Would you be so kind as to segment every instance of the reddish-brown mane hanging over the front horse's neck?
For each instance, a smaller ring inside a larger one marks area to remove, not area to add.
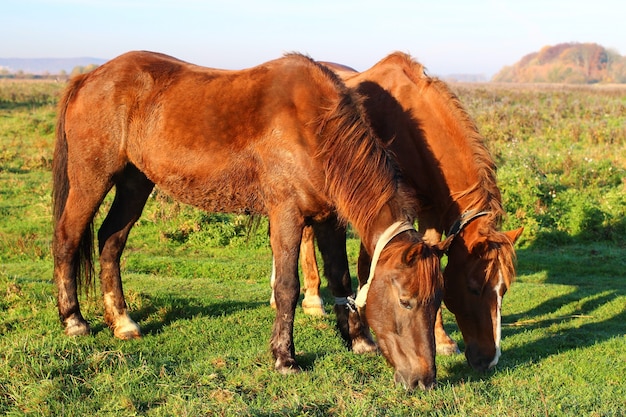
[[[410,193],[404,187],[398,192],[400,170],[371,128],[362,96],[331,69],[312,62],[340,92],[315,121],[323,138],[316,157],[325,164],[326,192],[341,221],[349,219],[363,236],[385,204],[395,199],[398,207],[411,207]]]

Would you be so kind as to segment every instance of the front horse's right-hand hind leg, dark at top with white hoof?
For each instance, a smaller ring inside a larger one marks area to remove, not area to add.
[[[98,231],[100,249],[100,285],[104,298],[104,320],[119,339],[141,337],[139,326],[127,311],[120,258],[128,234],[141,216],[154,184],[134,166],[129,165],[115,184],[115,199]]]

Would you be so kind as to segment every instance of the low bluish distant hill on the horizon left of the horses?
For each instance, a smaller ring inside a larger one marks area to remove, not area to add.
[[[0,71],[9,74],[22,72],[24,74],[59,74],[65,71],[71,73],[76,67],[88,65],[102,65],[106,59],[80,58],[0,58]]]

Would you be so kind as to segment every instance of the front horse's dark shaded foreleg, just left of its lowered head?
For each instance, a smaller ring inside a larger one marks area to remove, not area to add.
[[[337,224],[336,219],[315,224],[315,236],[322,259],[324,274],[328,286],[337,301],[345,300],[354,295],[352,279],[348,268],[346,252],[346,229]],[[355,353],[374,352],[378,348],[374,343],[367,325],[361,316],[350,305],[344,302],[335,303],[337,327],[341,336]]]

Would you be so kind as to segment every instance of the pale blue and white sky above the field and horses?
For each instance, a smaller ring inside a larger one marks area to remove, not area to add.
[[[543,46],[626,55],[623,0],[3,0],[0,57],[152,50],[241,69],[301,52],[366,70],[393,51],[430,74],[490,78]]]

